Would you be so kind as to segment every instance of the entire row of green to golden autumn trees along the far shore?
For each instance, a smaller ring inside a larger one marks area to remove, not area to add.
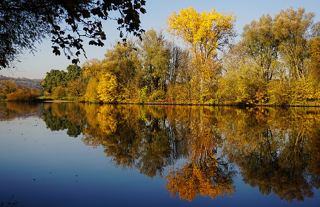
[[[319,105],[320,22],[288,7],[243,27],[233,13],[172,11],[163,30],[114,41],[104,58],[51,70],[45,96],[103,103]],[[175,43],[174,40],[178,40]]]

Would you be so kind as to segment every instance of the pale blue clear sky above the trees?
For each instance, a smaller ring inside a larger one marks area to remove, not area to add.
[[[146,13],[142,14],[141,22],[143,29],[159,29],[165,27],[166,16],[171,14],[171,10],[179,11],[181,8],[192,6],[196,11],[209,11],[215,8],[218,12],[233,11],[236,16],[235,29],[237,33],[242,32],[245,24],[252,20],[258,20],[262,14],[269,13],[273,16],[281,8],[289,6],[304,7],[307,12],[315,12],[314,21],[320,21],[320,3],[318,0],[146,0]],[[116,30],[117,24],[112,20],[103,22],[107,40],[104,47],[84,45],[88,59],[102,59],[105,50],[110,47],[110,43],[118,38],[119,32]],[[169,38],[169,37],[167,37]],[[51,42],[49,39],[43,40],[42,44],[37,45],[38,52],[29,54],[25,51],[20,62],[16,63],[15,70],[0,70],[0,74],[10,77],[44,78],[45,73],[51,69],[66,70],[71,64],[65,56],[55,56],[52,53]],[[85,61],[80,57],[81,65]]]

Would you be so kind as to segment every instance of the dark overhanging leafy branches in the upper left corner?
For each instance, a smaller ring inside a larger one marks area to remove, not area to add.
[[[144,0],[2,0],[0,2],[0,67],[15,61],[23,50],[35,51],[34,44],[51,37],[52,52],[62,52],[72,63],[85,56],[83,38],[88,44],[103,46],[106,39],[102,22],[116,20],[120,37],[126,33],[141,38],[139,14],[145,13]],[[118,11],[118,17],[111,16]],[[110,14],[109,14],[110,13]]]

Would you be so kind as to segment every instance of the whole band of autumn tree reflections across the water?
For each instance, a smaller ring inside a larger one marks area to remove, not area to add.
[[[23,114],[0,105],[1,120]],[[36,109],[36,107],[32,106]],[[8,111],[9,110],[9,111]],[[27,109],[26,109],[27,110]],[[320,187],[320,109],[46,104],[51,130],[81,132],[111,163],[162,178],[171,196],[232,196],[236,164],[244,183],[288,203]]]

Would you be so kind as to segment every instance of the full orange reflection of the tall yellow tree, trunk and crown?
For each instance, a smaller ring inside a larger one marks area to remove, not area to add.
[[[205,111],[207,112],[207,111]],[[172,168],[166,176],[166,191],[171,197],[179,193],[180,199],[192,201],[197,195],[232,196],[235,191],[233,184],[234,171],[222,158],[216,158],[216,148],[221,137],[215,128],[215,117],[203,110],[192,110],[189,113],[190,162],[181,169]]]

